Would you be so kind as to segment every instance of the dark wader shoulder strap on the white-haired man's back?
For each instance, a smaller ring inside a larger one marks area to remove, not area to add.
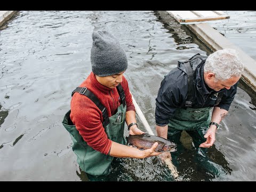
[[[194,77],[193,77],[193,71],[190,65],[190,61],[184,62],[184,66],[187,71],[188,75],[188,97],[185,102],[186,107],[191,107],[192,106],[192,101],[194,99]]]

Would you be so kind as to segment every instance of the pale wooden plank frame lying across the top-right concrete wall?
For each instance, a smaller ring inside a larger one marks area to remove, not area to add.
[[[167,11],[182,24],[186,22],[211,21],[229,19],[229,15],[222,11]]]

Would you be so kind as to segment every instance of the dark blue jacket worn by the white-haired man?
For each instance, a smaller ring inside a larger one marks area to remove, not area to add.
[[[194,55],[190,58],[191,66],[193,66],[194,77],[194,99],[191,108],[213,107],[217,101],[217,93],[223,92],[222,99],[217,105],[218,107],[229,110],[231,102],[233,101],[237,84],[231,86],[229,90],[222,89],[214,91],[210,89],[203,78],[204,63],[206,56],[200,54]],[[185,102],[188,95],[188,76],[183,62],[178,61],[178,67],[174,68],[167,74],[161,82],[161,87],[158,90],[156,98],[155,118],[156,124],[165,126],[168,124],[170,118],[174,116],[175,109],[186,108]]]

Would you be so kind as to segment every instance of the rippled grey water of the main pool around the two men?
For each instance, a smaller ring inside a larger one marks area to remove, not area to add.
[[[124,47],[129,60],[125,77],[154,132],[155,98],[164,75],[177,60],[210,53],[164,11],[18,12],[0,30],[0,180],[86,180],[61,121],[70,108],[71,92],[91,72],[94,29],[111,31]],[[250,95],[255,93],[238,87],[209,151],[219,176],[197,170],[191,138],[183,133],[186,151],[178,180],[256,180],[256,108]],[[113,180],[174,180],[158,157],[117,160]]]

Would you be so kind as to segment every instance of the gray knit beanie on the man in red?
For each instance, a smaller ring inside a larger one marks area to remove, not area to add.
[[[118,40],[108,31],[93,31],[92,72],[100,77],[118,74],[127,69],[127,57]]]

